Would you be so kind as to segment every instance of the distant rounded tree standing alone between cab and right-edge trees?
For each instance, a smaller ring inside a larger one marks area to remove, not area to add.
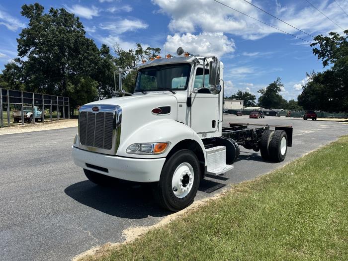
[[[266,88],[258,90],[258,92],[261,93],[258,100],[259,105],[266,109],[282,107],[286,100],[284,100],[284,98],[279,94],[281,87],[284,87],[284,85],[281,83],[281,79],[278,77],[277,80],[268,85]]]

